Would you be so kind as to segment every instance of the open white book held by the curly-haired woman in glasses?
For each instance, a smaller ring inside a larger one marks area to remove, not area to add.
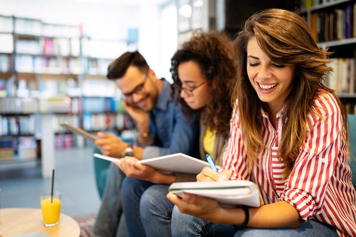
[[[120,162],[120,159],[108,157],[100,154],[94,154],[95,157],[110,161]],[[157,171],[171,174],[174,172],[186,174],[199,174],[204,167],[209,167],[209,163],[197,158],[185,155],[183,153],[175,153],[156,158],[144,159],[138,161],[141,164],[146,164],[154,167]],[[217,168],[220,168],[217,166]]]

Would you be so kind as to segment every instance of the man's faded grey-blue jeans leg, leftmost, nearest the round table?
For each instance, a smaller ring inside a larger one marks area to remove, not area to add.
[[[122,214],[120,190],[124,178],[125,174],[120,168],[111,163],[106,177],[102,204],[93,226],[94,233],[99,236],[126,236],[125,229],[119,228]]]

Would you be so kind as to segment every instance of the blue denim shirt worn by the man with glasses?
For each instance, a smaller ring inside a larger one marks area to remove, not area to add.
[[[199,157],[199,122],[183,115],[181,105],[171,99],[170,84],[162,81],[164,85],[153,109],[156,136],[149,146],[144,147],[142,159],[179,152]]]

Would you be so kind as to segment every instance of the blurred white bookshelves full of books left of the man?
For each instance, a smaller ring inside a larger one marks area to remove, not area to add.
[[[94,38],[83,25],[0,16],[0,166],[41,161],[50,176],[55,148],[85,145],[64,121],[90,132],[132,128],[105,75],[136,42]]]

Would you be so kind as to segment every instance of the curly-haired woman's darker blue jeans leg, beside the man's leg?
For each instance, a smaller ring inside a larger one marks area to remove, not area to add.
[[[129,237],[145,236],[140,218],[140,199],[143,192],[154,183],[126,177],[121,188],[121,200]]]

